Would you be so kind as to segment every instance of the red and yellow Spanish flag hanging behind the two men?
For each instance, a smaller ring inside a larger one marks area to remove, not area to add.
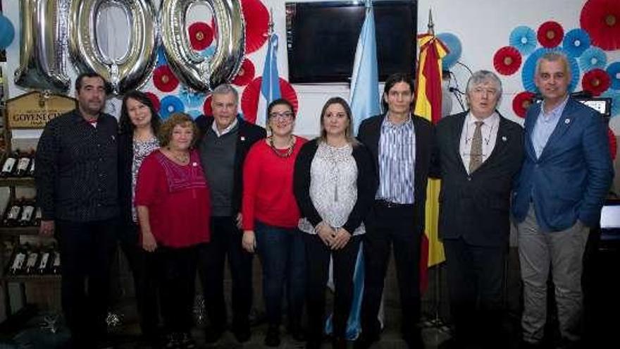
[[[416,72],[414,113],[435,124],[441,118],[441,60],[448,54],[448,49],[435,37],[432,29],[418,36],[418,44],[420,56]],[[426,188],[426,227],[420,259],[421,291],[428,286],[428,267],[445,260],[443,245],[438,238],[439,190],[440,180],[429,178]]]

